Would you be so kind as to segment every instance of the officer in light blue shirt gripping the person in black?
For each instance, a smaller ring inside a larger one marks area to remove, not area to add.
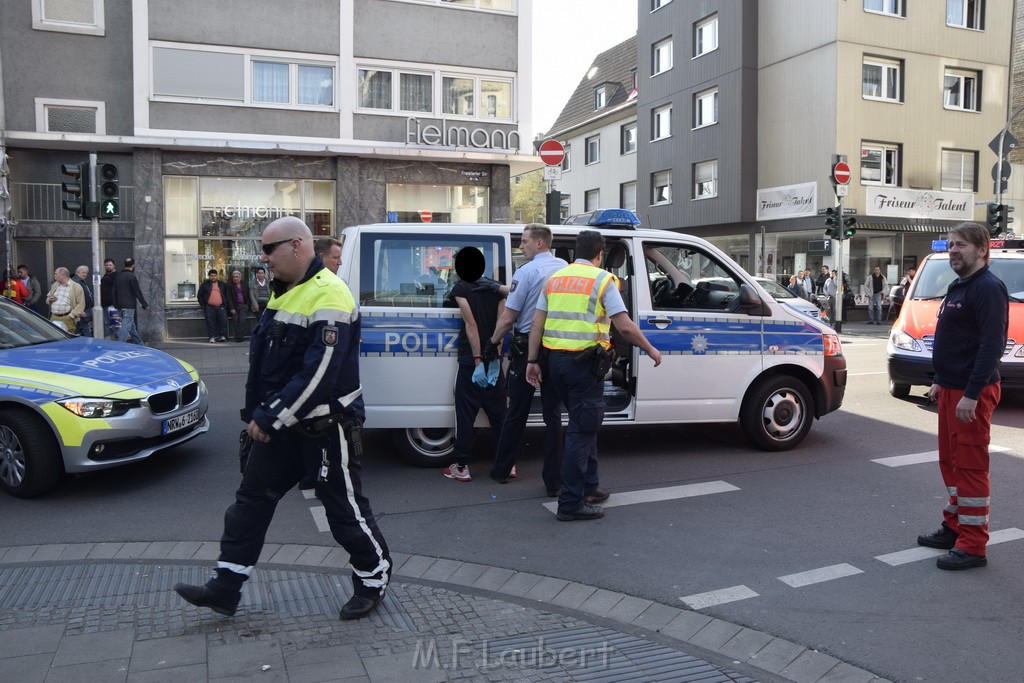
[[[497,347],[501,340],[512,333],[509,349],[508,396],[509,407],[505,413],[501,438],[495,454],[495,466],[490,477],[506,483],[515,467],[522,432],[526,428],[530,403],[536,389],[526,382],[526,348],[529,343],[529,327],[534,322],[537,299],[544,291],[548,276],[568,263],[551,253],[551,228],[541,223],[529,223],[522,229],[519,247],[526,263],[515,271],[509,295],[505,301],[505,312],[498,318],[498,326],[484,349],[484,358],[497,357]],[[561,399],[551,383],[541,385],[541,404],[544,424],[544,468],[541,476],[544,486],[551,497],[558,496],[562,467],[562,410]]]

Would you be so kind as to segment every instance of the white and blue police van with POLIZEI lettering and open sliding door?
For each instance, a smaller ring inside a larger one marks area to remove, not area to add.
[[[843,402],[846,358],[836,332],[775,301],[710,243],[639,222],[603,210],[550,226],[552,251],[569,263],[577,234],[601,231],[602,267],[618,278],[630,317],[662,352],[655,369],[612,326],[616,360],[604,382],[603,424],[738,423],[763,450],[798,445],[815,418]],[[479,249],[484,273],[509,284],[522,263],[522,229],[384,223],[343,231],[338,274],[359,302],[366,426],[394,430],[414,464],[440,466],[453,452],[455,254]],[[534,408],[529,424],[543,424],[539,396]]]

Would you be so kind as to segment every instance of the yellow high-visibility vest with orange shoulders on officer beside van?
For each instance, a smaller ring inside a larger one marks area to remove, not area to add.
[[[556,270],[545,286],[548,314],[541,343],[560,351],[611,346],[608,317],[601,297],[617,279],[597,266],[572,263]]]

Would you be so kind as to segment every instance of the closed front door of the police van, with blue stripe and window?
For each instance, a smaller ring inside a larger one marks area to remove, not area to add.
[[[711,245],[641,241],[636,322],[662,367],[639,359],[637,422],[735,421],[763,338],[763,318],[737,307],[738,266]]]

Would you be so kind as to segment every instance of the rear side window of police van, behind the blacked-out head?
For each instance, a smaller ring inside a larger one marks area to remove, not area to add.
[[[459,281],[455,255],[463,247],[483,254],[483,274],[503,281],[505,242],[499,236],[452,237],[435,232],[364,233],[359,254],[359,305],[451,307]]]

